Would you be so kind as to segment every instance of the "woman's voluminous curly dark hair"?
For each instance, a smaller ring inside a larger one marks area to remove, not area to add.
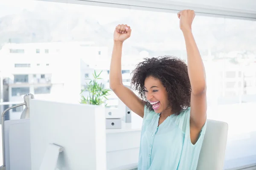
[[[138,91],[145,105],[152,111],[152,105],[145,96],[144,82],[149,76],[159,79],[166,88],[172,112],[179,115],[190,106],[191,85],[186,63],[173,56],[144,59],[131,73],[131,88]]]

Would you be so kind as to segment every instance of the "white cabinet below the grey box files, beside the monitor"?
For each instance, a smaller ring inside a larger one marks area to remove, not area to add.
[[[122,129],[106,129],[108,170],[138,163],[140,131],[140,124],[124,122],[122,122]]]

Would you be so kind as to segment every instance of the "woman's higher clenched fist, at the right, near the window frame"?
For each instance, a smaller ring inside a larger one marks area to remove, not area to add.
[[[191,31],[192,22],[195,18],[195,11],[193,10],[179,11],[178,17],[180,19],[180,29],[182,31]]]

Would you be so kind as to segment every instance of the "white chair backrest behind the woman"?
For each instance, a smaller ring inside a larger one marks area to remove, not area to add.
[[[199,155],[197,170],[222,170],[227,144],[226,122],[207,119],[204,142]]]

